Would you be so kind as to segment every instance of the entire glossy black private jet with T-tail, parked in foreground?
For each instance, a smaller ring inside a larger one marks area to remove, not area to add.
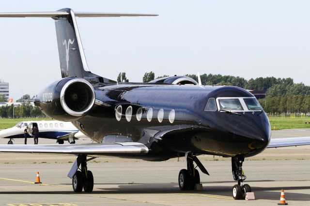
[[[251,191],[242,164],[267,147],[310,144],[310,137],[271,140],[269,120],[247,90],[202,86],[186,76],[149,83],[117,83],[90,72],[80,40],[77,17],[155,16],[56,12],[0,13],[0,17],[50,17],[55,20],[62,79],[45,88],[35,105],[48,117],[71,121],[93,144],[0,145],[0,152],[59,153],[77,156],[68,177],[73,190],[93,191],[87,162],[100,156],[165,161],[185,157],[179,173],[181,190],[193,190],[200,174],[209,175],[199,155],[231,158],[233,198]],[[89,158],[88,158],[89,157]]]

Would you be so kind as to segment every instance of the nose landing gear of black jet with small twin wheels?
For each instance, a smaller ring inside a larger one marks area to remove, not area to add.
[[[246,193],[251,192],[251,187],[248,184],[243,184],[243,181],[247,178],[243,174],[243,162],[244,157],[242,156],[232,157],[233,179],[238,181],[238,184],[233,186],[233,199],[235,200],[245,199]]]

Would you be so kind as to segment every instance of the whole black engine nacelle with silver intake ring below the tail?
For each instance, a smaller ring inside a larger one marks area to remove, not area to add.
[[[52,83],[40,94],[35,105],[48,117],[73,121],[86,115],[95,102],[93,86],[82,78],[68,77]]]

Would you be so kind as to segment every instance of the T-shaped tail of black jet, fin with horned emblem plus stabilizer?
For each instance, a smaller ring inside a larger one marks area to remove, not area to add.
[[[116,83],[113,80],[90,72],[87,66],[83,45],[79,36],[75,16],[108,17],[108,16],[154,16],[146,14],[117,14],[117,13],[74,13],[72,9],[64,8],[57,12],[30,13],[0,13],[0,17],[51,17],[55,20],[58,52],[62,78],[76,76],[90,82]]]

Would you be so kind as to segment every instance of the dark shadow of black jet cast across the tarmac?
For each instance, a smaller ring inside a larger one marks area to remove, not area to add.
[[[96,184],[102,185],[102,184]],[[113,185],[113,184],[109,184]],[[70,188],[71,189],[71,188]],[[206,186],[204,185],[203,191],[180,191],[176,183],[150,183],[150,184],[117,184],[115,187],[108,188],[94,188],[92,194],[198,194],[198,195],[214,195],[214,196],[227,196],[231,197],[232,187],[230,186]],[[252,187],[255,192],[256,199],[265,200],[278,200],[280,198],[280,187]],[[292,190],[310,190],[310,186],[296,186],[285,187],[285,196],[287,200],[295,201],[310,201],[309,194],[290,192]],[[0,194],[77,194],[73,191],[0,191]],[[86,192],[79,193],[81,195],[87,194]]]

